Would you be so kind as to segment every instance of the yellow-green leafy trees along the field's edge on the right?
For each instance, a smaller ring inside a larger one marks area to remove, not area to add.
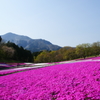
[[[59,62],[100,55],[100,42],[79,44],[75,48],[63,47],[57,51],[42,51],[34,62]]]

